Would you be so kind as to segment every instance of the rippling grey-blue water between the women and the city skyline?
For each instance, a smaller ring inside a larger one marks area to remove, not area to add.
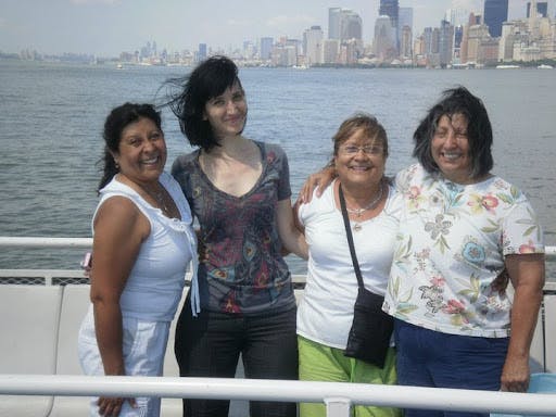
[[[0,61],[0,236],[90,236],[106,114],[124,101],[152,102],[166,78],[188,71]],[[374,113],[384,125],[394,174],[412,163],[412,134],[440,92],[468,87],[493,123],[493,172],[526,191],[546,243],[556,245],[556,71],[242,68],[240,76],[250,108],[245,135],[286,150],[294,198],[329,160],[331,137],[353,112]],[[163,116],[169,168],[191,149],[174,116]],[[2,249],[0,268],[76,268],[80,255]],[[288,262],[304,274],[304,262]]]

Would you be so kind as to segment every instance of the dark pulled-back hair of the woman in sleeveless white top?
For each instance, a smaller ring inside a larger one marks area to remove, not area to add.
[[[162,131],[161,114],[154,110],[152,104],[135,104],[125,103],[112,109],[104,122],[104,153],[99,165],[102,165],[102,178],[97,188],[99,192],[110,180],[118,173],[114,161],[114,153],[119,153],[119,142],[122,141],[122,132],[131,123],[139,118],[151,119]]]

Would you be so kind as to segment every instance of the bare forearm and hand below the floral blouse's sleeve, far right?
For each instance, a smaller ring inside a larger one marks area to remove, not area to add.
[[[506,256],[506,268],[515,288],[511,336],[502,370],[503,391],[525,392],[529,387],[529,349],[543,296],[544,255]]]

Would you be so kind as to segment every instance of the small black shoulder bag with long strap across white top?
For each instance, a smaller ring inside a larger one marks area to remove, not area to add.
[[[394,327],[393,317],[382,311],[384,298],[365,289],[361,275],[359,263],[353,244],[350,218],[345,208],[345,199],[342,186],[338,189],[340,206],[342,208],[343,224],[350,244],[353,268],[357,277],[358,292],[353,311],[353,324],[348,338],[348,345],[343,354],[368,362],[382,368],[390,346],[390,337]]]

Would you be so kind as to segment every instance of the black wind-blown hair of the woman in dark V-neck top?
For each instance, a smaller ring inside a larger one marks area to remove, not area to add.
[[[201,62],[189,76],[165,81],[170,90],[166,105],[178,118],[179,128],[191,146],[205,151],[219,146],[210,122],[203,119],[205,104],[236,83],[243,89],[237,65],[223,55]]]

